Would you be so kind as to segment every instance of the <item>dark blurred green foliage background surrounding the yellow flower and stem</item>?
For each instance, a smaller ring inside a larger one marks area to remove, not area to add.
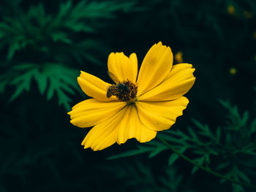
[[[110,82],[109,53],[137,53],[141,63],[162,41],[197,78],[184,115],[160,135],[198,164],[255,184],[255,18],[254,0],[1,0],[0,191],[252,191],[220,183],[157,139],[83,150],[89,128],[66,113],[87,99],[80,70]]]

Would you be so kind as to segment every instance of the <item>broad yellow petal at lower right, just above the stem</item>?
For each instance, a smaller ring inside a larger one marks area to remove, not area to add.
[[[182,96],[173,101],[138,101],[136,106],[140,120],[147,128],[162,131],[176,122],[176,118],[182,115],[188,103],[189,100]]]

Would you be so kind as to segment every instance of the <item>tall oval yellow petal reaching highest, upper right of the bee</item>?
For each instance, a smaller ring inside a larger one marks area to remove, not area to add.
[[[159,42],[146,54],[138,74],[138,95],[146,93],[159,85],[169,74],[173,65],[173,53],[170,47]]]

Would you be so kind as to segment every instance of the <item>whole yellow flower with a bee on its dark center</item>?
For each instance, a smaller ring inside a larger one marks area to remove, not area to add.
[[[173,66],[173,53],[162,42],[148,50],[139,73],[135,53],[129,58],[110,53],[108,71],[116,84],[86,72],[78,77],[80,88],[93,98],[68,112],[73,125],[94,126],[83,139],[84,148],[103,150],[131,138],[138,142],[154,139],[157,131],[170,128],[183,114],[189,103],[183,95],[195,82],[192,65]]]

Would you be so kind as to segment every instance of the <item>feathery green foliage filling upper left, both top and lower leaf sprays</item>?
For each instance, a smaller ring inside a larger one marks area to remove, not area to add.
[[[74,88],[78,92],[78,72],[69,66],[73,62],[101,65],[97,55],[104,50],[96,39],[80,37],[96,34],[108,20],[116,18],[116,12],[129,12],[134,5],[135,1],[67,1],[60,4],[56,14],[48,14],[39,4],[27,12],[4,15],[0,20],[0,50],[7,52],[7,60],[0,66],[0,92],[14,85],[12,101],[23,91],[30,91],[34,79],[41,94],[47,92],[47,99],[51,99],[56,93],[59,104],[69,110],[69,95],[75,93]],[[23,61],[19,61],[21,55]]]

